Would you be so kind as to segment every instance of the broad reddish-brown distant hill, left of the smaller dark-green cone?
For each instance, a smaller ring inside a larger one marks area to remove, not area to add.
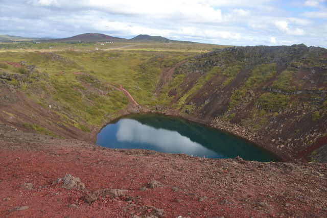
[[[62,38],[62,39],[52,39],[50,41],[56,41],[56,42],[99,42],[99,41],[123,41],[127,40],[124,38],[119,38],[119,37],[113,37],[113,36],[108,36],[105,34],[101,33],[84,33],[68,38]]]

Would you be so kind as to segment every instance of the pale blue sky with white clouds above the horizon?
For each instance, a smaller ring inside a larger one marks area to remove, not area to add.
[[[327,0],[0,0],[0,34],[62,38],[89,32],[327,47]]]

